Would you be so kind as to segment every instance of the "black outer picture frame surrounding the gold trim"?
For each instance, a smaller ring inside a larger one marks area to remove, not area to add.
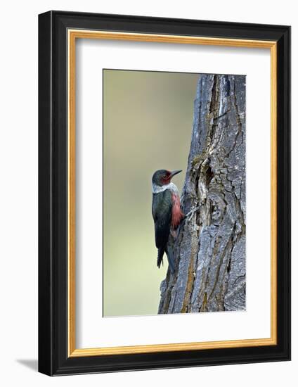
[[[277,345],[68,357],[69,28],[277,42]],[[279,360],[290,360],[290,27],[63,11],[39,15],[39,372],[53,376]]]

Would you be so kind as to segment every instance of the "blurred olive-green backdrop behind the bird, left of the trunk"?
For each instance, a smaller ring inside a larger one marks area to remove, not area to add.
[[[156,315],[160,282],[151,215],[155,170],[182,169],[197,74],[103,70],[103,315]]]

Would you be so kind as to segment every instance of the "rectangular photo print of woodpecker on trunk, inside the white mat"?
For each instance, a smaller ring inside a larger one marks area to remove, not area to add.
[[[245,75],[103,70],[103,317],[245,310]]]

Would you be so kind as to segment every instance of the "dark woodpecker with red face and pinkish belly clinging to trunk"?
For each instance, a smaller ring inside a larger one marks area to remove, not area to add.
[[[185,217],[180,208],[178,188],[171,183],[171,178],[180,172],[182,170],[157,170],[152,177],[152,215],[155,224],[155,246],[158,249],[157,267],[160,268],[166,253],[171,273],[174,273],[174,259],[167,248],[169,233],[175,230]]]

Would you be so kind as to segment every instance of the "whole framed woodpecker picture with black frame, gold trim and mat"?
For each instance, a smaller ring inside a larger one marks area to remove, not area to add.
[[[39,15],[39,372],[290,360],[290,27]]]

